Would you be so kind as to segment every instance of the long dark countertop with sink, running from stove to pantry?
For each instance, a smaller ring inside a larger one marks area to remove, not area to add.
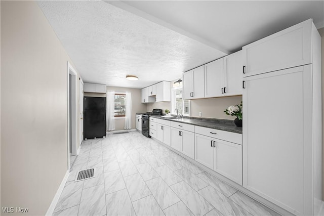
[[[209,127],[213,129],[219,129],[221,131],[228,131],[237,134],[242,134],[242,127],[237,127],[234,124],[234,120],[225,120],[217,118],[198,118],[198,117],[188,117],[184,116],[183,118],[164,118],[161,116],[154,116],[155,118],[160,118],[169,121],[182,122],[186,124],[193,124],[201,127]]]

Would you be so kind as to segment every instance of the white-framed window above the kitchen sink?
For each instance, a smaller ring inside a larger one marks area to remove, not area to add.
[[[177,114],[175,109],[178,109],[178,114],[190,115],[190,100],[182,98],[182,88],[172,90],[171,113]]]

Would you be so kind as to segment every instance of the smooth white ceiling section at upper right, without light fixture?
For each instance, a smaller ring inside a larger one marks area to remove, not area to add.
[[[225,53],[310,18],[317,28],[324,27],[324,1],[107,2],[208,41]]]

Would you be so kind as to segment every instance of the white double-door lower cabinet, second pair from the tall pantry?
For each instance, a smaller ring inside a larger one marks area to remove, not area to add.
[[[171,127],[171,147],[194,159],[194,133]]]

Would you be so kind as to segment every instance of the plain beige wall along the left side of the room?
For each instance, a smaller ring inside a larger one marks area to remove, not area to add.
[[[1,1],[1,207],[44,215],[67,171],[67,61],[36,2]]]

